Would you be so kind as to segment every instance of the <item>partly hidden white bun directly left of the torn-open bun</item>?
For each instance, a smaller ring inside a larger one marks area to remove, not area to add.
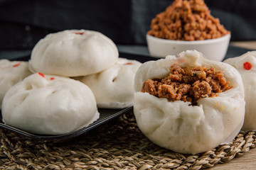
[[[92,89],[100,108],[126,108],[133,105],[134,77],[142,63],[119,58],[113,67],[79,80]]]

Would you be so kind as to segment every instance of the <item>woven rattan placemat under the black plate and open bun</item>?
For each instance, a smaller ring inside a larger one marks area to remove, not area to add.
[[[133,113],[72,140],[40,141],[0,130],[0,169],[204,169],[255,147],[255,132],[240,132],[230,145],[185,155],[154,145]]]

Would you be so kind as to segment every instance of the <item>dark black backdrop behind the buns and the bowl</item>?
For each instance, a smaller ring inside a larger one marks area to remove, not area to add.
[[[255,0],[205,0],[231,40],[256,40]],[[97,30],[118,45],[146,45],[151,19],[171,0],[0,0],[0,50],[31,50],[48,33]]]

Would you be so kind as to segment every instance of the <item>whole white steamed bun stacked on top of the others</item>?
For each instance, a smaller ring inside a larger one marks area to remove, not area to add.
[[[117,46],[102,33],[64,30],[36,44],[29,67],[33,72],[78,77],[112,67],[118,56]]]

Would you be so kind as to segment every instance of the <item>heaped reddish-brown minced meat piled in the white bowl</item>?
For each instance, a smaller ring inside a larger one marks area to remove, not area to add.
[[[210,15],[203,0],[175,0],[151,21],[149,35],[168,40],[208,40],[230,31]]]

